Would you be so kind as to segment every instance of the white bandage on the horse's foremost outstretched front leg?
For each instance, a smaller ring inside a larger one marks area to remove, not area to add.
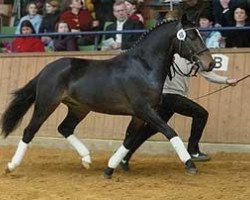
[[[186,163],[189,159],[191,159],[191,156],[187,152],[180,137],[173,137],[170,139],[170,142],[183,163]]]

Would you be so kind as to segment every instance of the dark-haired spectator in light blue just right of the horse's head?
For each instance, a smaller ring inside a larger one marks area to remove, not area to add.
[[[199,26],[201,28],[212,28],[214,19],[209,13],[202,13],[199,17]],[[224,39],[219,31],[202,31],[201,35],[207,48],[225,47]]]

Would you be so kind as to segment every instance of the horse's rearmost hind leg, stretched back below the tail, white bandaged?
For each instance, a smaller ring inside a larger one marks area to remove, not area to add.
[[[49,102],[49,101],[47,101]],[[58,103],[53,104],[35,104],[34,112],[32,118],[28,124],[28,126],[24,129],[23,137],[20,140],[17,150],[12,157],[11,162],[8,163],[6,172],[12,172],[14,169],[19,166],[23,160],[23,157],[26,153],[28,148],[28,144],[34,138],[36,132],[39,130],[41,125],[45,122],[45,120],[50,116],[52,112],[57,108],[59,105]]]

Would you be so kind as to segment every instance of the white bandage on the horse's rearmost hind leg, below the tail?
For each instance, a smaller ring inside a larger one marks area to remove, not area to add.
[[[15,155],[12,157],[11,162],[8,163],[8,170],[10,172],[21,164],[27,148],[28,144],[20,140]]]

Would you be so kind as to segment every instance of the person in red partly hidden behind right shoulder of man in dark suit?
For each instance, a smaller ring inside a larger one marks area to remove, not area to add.
[[[139,21],[144,24],[144,19],[141,13],[137,10],[137,0],[125,0],[129,19]]]

